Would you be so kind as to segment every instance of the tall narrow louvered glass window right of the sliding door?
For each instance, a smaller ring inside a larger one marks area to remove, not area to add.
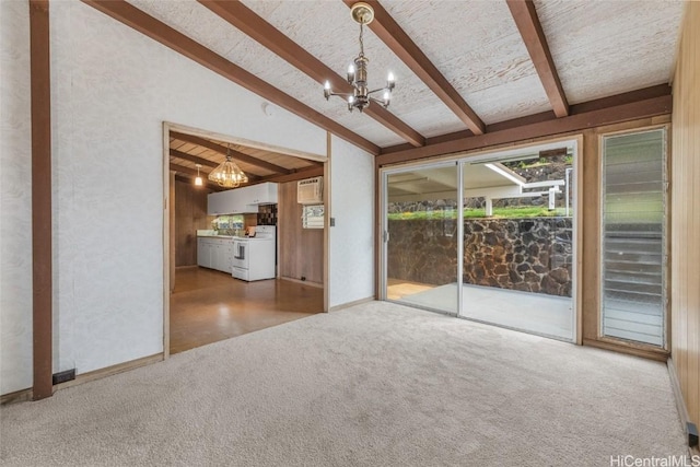
[[[603,139],[604,336],[666,342],[666,135]]]

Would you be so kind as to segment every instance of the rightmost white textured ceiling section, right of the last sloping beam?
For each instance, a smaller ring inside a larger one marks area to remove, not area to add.
[[[680,1],[535,2],[569,103],[667,83]]]

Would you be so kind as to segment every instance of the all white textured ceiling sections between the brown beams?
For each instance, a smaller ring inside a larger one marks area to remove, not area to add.
[[[368,115],[329,102],[322,84],[194,0],[129,0],[264,81],[380,147],[405,141]],[[359,26],[340,0],[244,0],[338,74],[359,51]],[[486,124],[551,110],[505,1],[382,0],[382,5]],[[682,2],[536,0],[571,104],[668,82]],[[389,112],[424,137],[466,126],[365,28],[370,86],[394,72]]]

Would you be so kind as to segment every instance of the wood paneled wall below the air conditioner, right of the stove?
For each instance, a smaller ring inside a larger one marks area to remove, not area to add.
[[[302,205],[296,202],[296,182],[279,184],[277,238],[279,276],[322,284],[324,281],[324,230],[302,229]]]

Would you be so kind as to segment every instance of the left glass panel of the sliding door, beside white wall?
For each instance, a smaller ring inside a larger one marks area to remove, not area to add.
[[[456,163],[385,176],[386,299],[456,314]]]

